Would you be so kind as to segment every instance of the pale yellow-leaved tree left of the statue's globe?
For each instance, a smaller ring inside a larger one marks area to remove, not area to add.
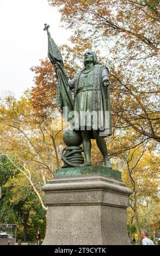
[[[1,103],[0,154],[7,156],[27,179],[45,210],[41,187],[54,177],[61,164],[61,130],[57,130],[54,118],[35,112],[27,96]]]

